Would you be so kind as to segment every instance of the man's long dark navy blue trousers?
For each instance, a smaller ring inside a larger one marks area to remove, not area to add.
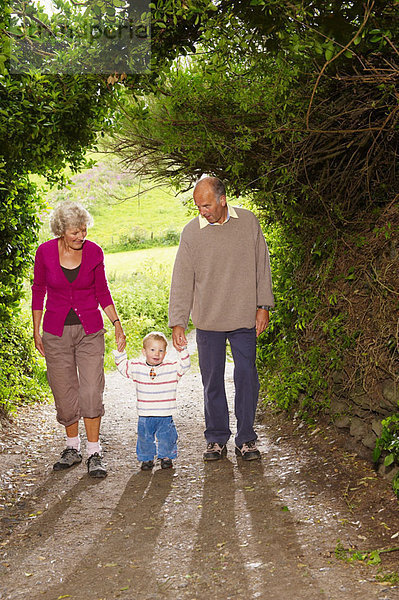
[[[205,439],[207,442],[223,445],[231,435],[224,385],[226,340],[230,342],[234,359],[234,411],[237,418],[235,443],[241,446],[258,437],[254,430],[259,394],[255,364],[255,327],[234,331],[197,329],[198,358],[204,385]]]

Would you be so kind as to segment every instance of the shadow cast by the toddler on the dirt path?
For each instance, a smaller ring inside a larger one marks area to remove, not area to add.
[[[62,584],[38,598],[53,600],[66,594],[85,600],[113,600],[121,594],[129,600],[158,597],[153,595],[153,554],[172,480],[172,471],[134,474],[81,564]]]

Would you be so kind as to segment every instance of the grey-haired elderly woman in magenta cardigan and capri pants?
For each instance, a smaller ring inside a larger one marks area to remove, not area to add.
[[[104,414],[104,324],[99,305],[115,327],[118,350],[125,335],[115,310],[100,246],[86,240],[90,214],[75,202],[59,204],[51,214],[54,239],[36,252],[32,285],[34,341],[46,358],[57,420],[65,426],[66,448],[53,469],[82,462],[78,424],[87,435],[87,469],[91,477],[106,477],[99,441]],[[44,297],[47,294],[40,325]]]

